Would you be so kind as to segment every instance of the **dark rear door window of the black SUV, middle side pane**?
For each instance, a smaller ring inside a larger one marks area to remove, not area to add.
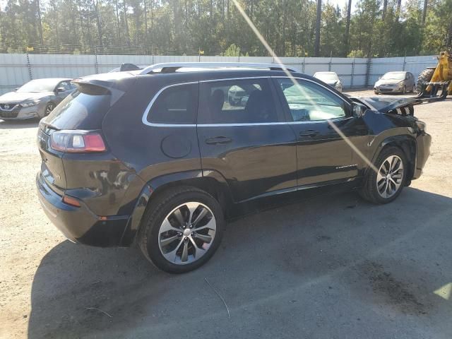
[[[266,78],[201,83],[198,124],[255,124],[278,121]]]

